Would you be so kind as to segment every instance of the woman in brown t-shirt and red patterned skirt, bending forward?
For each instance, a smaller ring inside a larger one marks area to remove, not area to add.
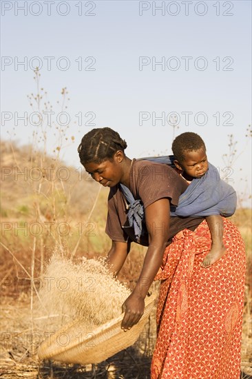
[[[85,170],[110,187],[106,232],[114,273],[132,241],[148,246],[136,287],[123,304],[121,327],[126,331],[140,320],[151,283],[161,280],[151,378],[240,378],[245,271],[240,233],[224,218],[227,254],[202,267],[211,248],[206,221],[169,217],[187,183],[168,165],[129,159],[126,147],[108,127],[91,130],[78,147]]]

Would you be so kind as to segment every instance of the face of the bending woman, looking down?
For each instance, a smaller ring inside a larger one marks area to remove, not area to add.
[[[111,160],[103,161],[102,163],[86,163],[85,170],[92,178],[103,185],[103,187],[114,187],[120,183],[122,178],[122,165],[116,154]]]

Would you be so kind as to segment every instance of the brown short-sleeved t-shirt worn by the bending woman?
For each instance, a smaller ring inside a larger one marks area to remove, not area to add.
[[[129,190],[135,200],[140,200],[143,207],[160,200],[169,198],[171,209],[178,205],[180,194],[187,189],[187,183],[169,165],[141,161],[134,159],[129,172]],[[134,241],[140,245],[148,246],[148,234],[145,225],[145,234],[136,240],[134,227],[129,227],[127,220],[127,201],[120,189],[120,185],[110,188],[108,198],[108,214],[105,232],[115,241]],[[204,218],[202,217],[171,217],[169,240],[182,229],[194,230]]]

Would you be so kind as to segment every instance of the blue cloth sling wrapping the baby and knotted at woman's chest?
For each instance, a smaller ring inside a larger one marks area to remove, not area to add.
[[[140,158],[140,160],[165,163],[174,167],[174,156],[153,156]],[[127,214],[129,226],[134,227],[134,233],[138,239],[144,232],[143,203],[135,200],[129,188],[122,183],[120,183],[120,189],[129,203]],[[180,195],[178,206],[174,212],[171,212],[171,216],[198,217],[220,214],[228,217],[235,212],[236,202],[236,192],[233,187],[222,181],[216,167],[209,163],[209,170],[206,174],[201,178],[193,178],[185,192]]]

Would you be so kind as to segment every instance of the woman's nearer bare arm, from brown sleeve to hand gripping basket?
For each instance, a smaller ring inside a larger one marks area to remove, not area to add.
[[[161,198],[145,209],[145,222],[149,234],[149,247],[140,276],[132,294],[125,300],[125,316],[121,323],[124,330],[130,329],[143,315],[145,296],[162,263],[169,235],[169,200]]]

